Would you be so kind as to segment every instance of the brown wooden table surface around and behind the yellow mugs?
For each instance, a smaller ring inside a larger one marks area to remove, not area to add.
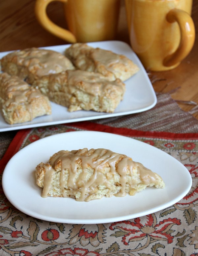
[[[0,52],[67,44],[42,28],[34,14],[35,0],[0,0]],[[53,2],[48,7],[48,15],[59,26],[66,26],[62,3]],[[179,101],[194,101],[198,104],[198,1],[193,1],[192,19],[195,24],[196,38],[193,49],[182,63],[171,71],[151,72],[149,77],[156,92],[170,92],[178,100],[184,111],[194,105]],[[129,44],[124,0],[121,0],[118,32],[115,38]],[[198,112],[193,116],[198,119]]]

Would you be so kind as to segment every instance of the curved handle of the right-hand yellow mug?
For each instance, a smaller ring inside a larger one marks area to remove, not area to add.
[[[170,67],[179,64],[191,51],[195,41],[195,26],[190,15],[179,9],[169,11],[166,19],[170,23],[177,22],[181,33],[179,47],[163,61],[164,66]]]

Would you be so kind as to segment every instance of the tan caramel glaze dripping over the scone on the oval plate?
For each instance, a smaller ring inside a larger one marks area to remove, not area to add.
[[[78,179],[76,179],[76,174],[78,172],[77,162],[81,161],[82,172],[79,174]],[[98,185],[105,184],[109,189],[111,185],[108,182],[106,175],[103,174],[102,170],[105,166],[110,167],[110,172],[115,177],[115,174],[118,173],[120,176],[119,183],[121,184],[121,189],[116,196],[125,196],[125,187],[127,182],[126,174],[129,170],[130,175],[133,175],[133,168],[138,168],[138,173],[140,174],[140,179],[145,183],[149,184],[157,183],[155,174],[144,167],[138,162],[132,161],[131,158],[126,155],[114,153],[108,149],[90,149],[87,148],[65,151],[61,150],[58,153],[54,154],[49,161],[48,165],[45,165],[45,176],[44,176],[44,189],[42,197],[47,197],[50,189],[50,184],[52,181],[53,172],[56,170],[53,168],[57,164],[57,161],[61,160],[61,174],[60,174],[60,188],[63,197],[66,197],[65,194],[65,180],[64,180],[64,171],[68,169],[69,177],[67,181],[67,186],[70,190],[71,195],[75,195],[76,191],[81,191],[79,198],[76,198],[77,201],[89,201],[89,196],[94,194],[95,188]],[[94,171],[93,174],[88,178],[89,171],[87,166],[90,166]],[[88,178],[88,180],[87,180]],[[86,181],[87,180],[87,181]],[[134,180],[134,183],[135,180]],[[132,185],[132,184],[131,184]]]

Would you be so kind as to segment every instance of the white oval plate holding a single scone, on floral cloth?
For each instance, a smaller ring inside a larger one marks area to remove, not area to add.
[[[47,162],[59,150],[84,147],[107,148],[130,156],[159,174],[165,188],[148,187],[135,196],[113,196],[90,202],[41,197],[42,188],[36,185],[35,167],[40,162]],[[17,152],[3,172],[2,185],[8,200],[27,215],[51,222],[99,224],[137,218],[165,209],[188,193],[192,179],[178,160],[147,143],[106,132],[72,131],[45,137]]]

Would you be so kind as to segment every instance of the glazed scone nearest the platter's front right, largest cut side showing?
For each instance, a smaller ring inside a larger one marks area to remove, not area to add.
[[[114,112],[125,92],[120,79],[108,81],[99,73],[82,70],[50,74],[35,80],[32,86],[70,112],[82,109]]]

